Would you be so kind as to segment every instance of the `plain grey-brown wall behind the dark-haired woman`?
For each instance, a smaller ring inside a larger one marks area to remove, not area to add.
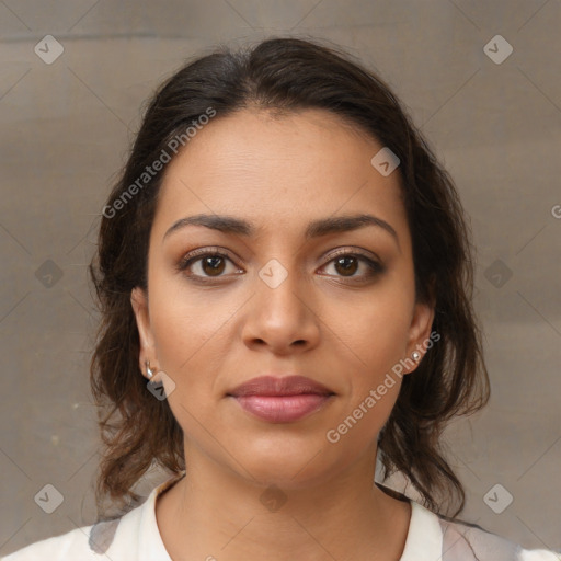
[[[142,103],[185,58],[271,34],[327,38],[377,69],[455,178],[493,392],[446,433],[461,518],[560,548],[560,24],[556,0],[0,0],[0,554],[95,514],[85,265]],[[65,48],[51,65],[34,51],[47,34]],[[483,50],[497,34],[514,48],[501,64]],[[514,497],[502,514],[483,500],[497,483]],[[53,514],[34,501],[46,484],[64,495]]]

